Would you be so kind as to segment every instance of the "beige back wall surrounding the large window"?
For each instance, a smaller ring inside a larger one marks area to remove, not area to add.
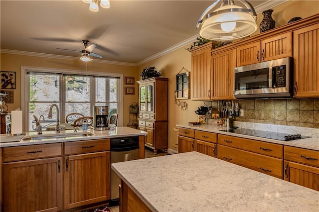
[[[16,89],[14,89],[14,103],[7,104],[8,112],[16,108],[21,108],[21,66],[54,68],[54,69],[68,69],[79,70],[81,73],[85,72],[104,72],[104,73],[120,73],[124,77],[135,77],[137,79],[137,68],[134,66],[119,66],[110,65],[104,63],[95,63],[94,60],[90,63],[84,63],[80,60],[67,60],[67,59],[54,59],[45,57],[24,56],[16,54],[4,54],[1,53],[0,62],[1,71],[16,72]],[[88,65],[86,67],[86,65]],[[123,83],[124,84],[124,83]],[[123,94],[124,94],[123,86]],[[135,83],[135,91],[137,90],[137,83]],[[126,126],[129,123],[129,106],[133,102],[137,102],[138,94],[125,95],[123,98],[123,125]]]

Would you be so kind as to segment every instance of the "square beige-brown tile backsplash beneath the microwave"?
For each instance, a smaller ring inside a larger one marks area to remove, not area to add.
[[[238,100],[237,121],[319,128],[319,99]]]

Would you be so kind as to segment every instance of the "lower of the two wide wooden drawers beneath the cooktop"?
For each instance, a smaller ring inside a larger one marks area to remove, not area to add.
[[[217,147],[219,159],[283,179],[283,160],[228,146]]]

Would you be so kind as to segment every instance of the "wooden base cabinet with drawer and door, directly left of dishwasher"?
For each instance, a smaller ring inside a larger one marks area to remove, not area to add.
[[[110,139],[64,143],[64,209],[111,199]]]

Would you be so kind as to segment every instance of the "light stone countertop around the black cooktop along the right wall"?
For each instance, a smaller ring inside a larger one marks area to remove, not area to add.
[[[176,124],[176,126],[319,151],[319,129],[316,129],[316,128],[234,121],[234,126],[237,126],[239,128],[312,136],[311,138],[303,138],[303,139],[297,139],[297,140],[291,140],[291,141],[281,141],[281,140],[275,140],[275,139],[269,139],[269,138],[251,136],[251,135],[243,135],[238,133],[220,131],[220,130],[227,129],[227,127],[219,126],[218,124],[199,124],[199,125]]]

